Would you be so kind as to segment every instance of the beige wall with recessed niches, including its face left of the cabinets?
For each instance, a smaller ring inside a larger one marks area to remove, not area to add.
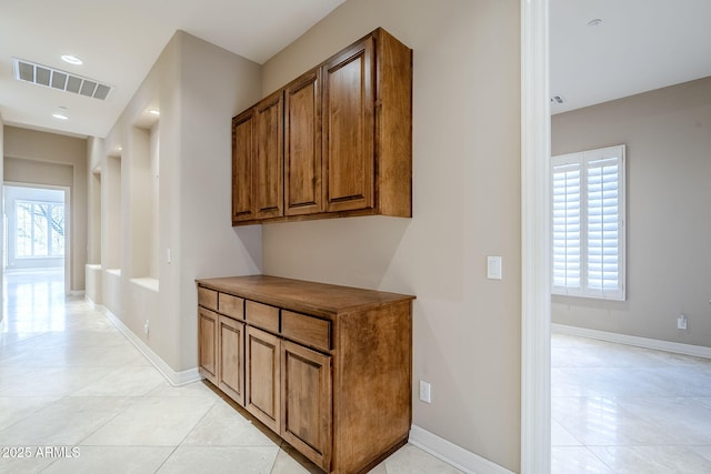
[[[231,118],[259,99],[260,78],[259,64],[179,31],[90,147],[88,169],[101,173],[90,177],[102,210],[91,214],[101,221],[92,246],[104,271],[101,297],[176,376],[197,376],[194,280],[261,272],[261,229],[234,230],[230,220]],[[149,105],[160,109],[152,132],[142,118]]]

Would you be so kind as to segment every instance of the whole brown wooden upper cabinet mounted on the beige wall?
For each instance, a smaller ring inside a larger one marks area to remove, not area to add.
[[[232,145],[233,225],[412,216],[412,50],[387,31],[377,29],[234,120],[233,140],[251,133],[252,144]]]

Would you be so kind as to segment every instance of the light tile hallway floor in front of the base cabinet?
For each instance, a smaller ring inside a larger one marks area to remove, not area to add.
[[[62,293],[61,273],[4,275],[0,473],[319,472],[207,384],[168,384],[101,312]],[[372,473],[459,471],[408,444]]]

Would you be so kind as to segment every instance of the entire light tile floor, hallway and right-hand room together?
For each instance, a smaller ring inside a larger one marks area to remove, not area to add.
[[[6,274],[0,473],[318,472],[62,292],[61,274]],[[551,351],[553,473],[711,473],[711,361],[559,334]],[[372,472],[458,471],[407,445]]]

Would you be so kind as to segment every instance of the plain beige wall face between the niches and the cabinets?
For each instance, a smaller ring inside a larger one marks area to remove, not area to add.
[[[262,271],[261,229],[233,229],[231,220],[232,117],[259,99],[261,68],[187,33],[180,41],[180,174],[174,191],[180,193],[181,268],[176,301],[182,322],[180,364],[196,367],[194,279]],[[163,143],[161,138],[161,157]],[[162,162],[160,169],[162,175]]]

